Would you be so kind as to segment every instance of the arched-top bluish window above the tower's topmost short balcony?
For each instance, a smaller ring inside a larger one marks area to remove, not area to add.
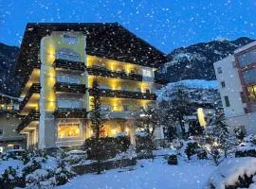
[[[69,49],[61,48],[56,53],[56,58],[61,60],[71,60],[71,61],[80,61],[81,56],[79,53]]]

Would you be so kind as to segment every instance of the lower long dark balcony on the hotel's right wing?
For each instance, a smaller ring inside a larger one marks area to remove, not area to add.
[[[129,92],[129,91],[120,91],[120,90],[109,90],[109,89],[99,89],[98,92],[89,89],[89,94],[94,95],[98,93],[100,96],[108,97],[119,97],[119,98],[134,98],[134,99],[147,99],[155,100],[156,95],[151,93],[141,93],[141,92]]]

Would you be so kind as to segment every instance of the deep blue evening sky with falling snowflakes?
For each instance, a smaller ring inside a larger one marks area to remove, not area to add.
[[[256,0],[0,0],[0,42],[29,22],[119,22],[169,53],[216,38],[256,38]]]

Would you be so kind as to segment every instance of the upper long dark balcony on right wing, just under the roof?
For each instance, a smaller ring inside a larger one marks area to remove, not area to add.
[[[89,75],[93,75],[93,76],[114,77],[114,78],[142,81],[142,76],[136,73],[126,74],[124,71],[115,72],[101,66],[87,67],[86,70]]]

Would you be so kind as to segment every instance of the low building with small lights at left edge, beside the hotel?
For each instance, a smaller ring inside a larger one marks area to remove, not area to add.
[[[18,108],[17,98],[0,94],[0,152],[26,148],[26,137],[16,131],[20,123]]]

